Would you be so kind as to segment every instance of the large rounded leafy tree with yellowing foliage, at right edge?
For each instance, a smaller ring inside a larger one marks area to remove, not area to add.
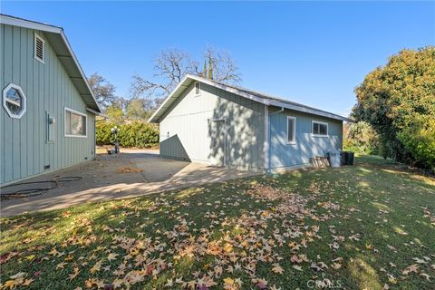
[[[395,160],[435,169],[435,47],[402,50],[355,89],[353,115]]]

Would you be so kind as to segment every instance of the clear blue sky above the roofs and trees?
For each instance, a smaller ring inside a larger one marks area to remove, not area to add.
[[[242,86],[347,114],[364,75],[403,48],[435,43],[435,2],[5,2],[62,26],[83,70],[127,96],[160,50],[231,53]]]

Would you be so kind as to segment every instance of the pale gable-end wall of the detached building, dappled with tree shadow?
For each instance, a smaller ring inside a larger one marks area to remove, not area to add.
[[[205,83],[191,83],[160,121],[160,155],[264,170],[265,106]],[[225,122],[223,121],[225,119]]]

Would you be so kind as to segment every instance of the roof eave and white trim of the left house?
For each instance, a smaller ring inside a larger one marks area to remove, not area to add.
[[[53,47],[53,50],[56,53],[56,56],[59,58],[59,61],[63,64],[63,67],[65,68],[66,73],[68,73],[75,88],[82,96],[82,99],[86,103],[86,106],[97,113],[102,112],[102,109],[96,101],[91,87],[89,86],[86,75],[83,73],[82,67],[80,66],[79,61],[75,57],[70,43],[68,43],[68,39],[63,33],[62,27],[42,24],[39,22],[34,22],[6,14],[0,14],[0,24],[19,26],[42,31],[45,38]]]

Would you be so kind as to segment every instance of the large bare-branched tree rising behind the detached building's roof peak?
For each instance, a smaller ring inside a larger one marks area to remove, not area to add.
[[[179,49],[166,49],[160,52],[154,60],[153,79],[147,79],[139,74],[134,74],[131,81],[131,98],[146,98],[159,104],[164,97],[177,86],[186,73],[200,76],[213,74],[213,79],[224,83],[238,83],[241,81],[237,65],[231,55],[225,51],[215,50],[212,47],[203,53],[204,61],[210,63],[200,68],[202,62],[190,57],[189,53]],[[204,70],[212,70],[205,72]]]

